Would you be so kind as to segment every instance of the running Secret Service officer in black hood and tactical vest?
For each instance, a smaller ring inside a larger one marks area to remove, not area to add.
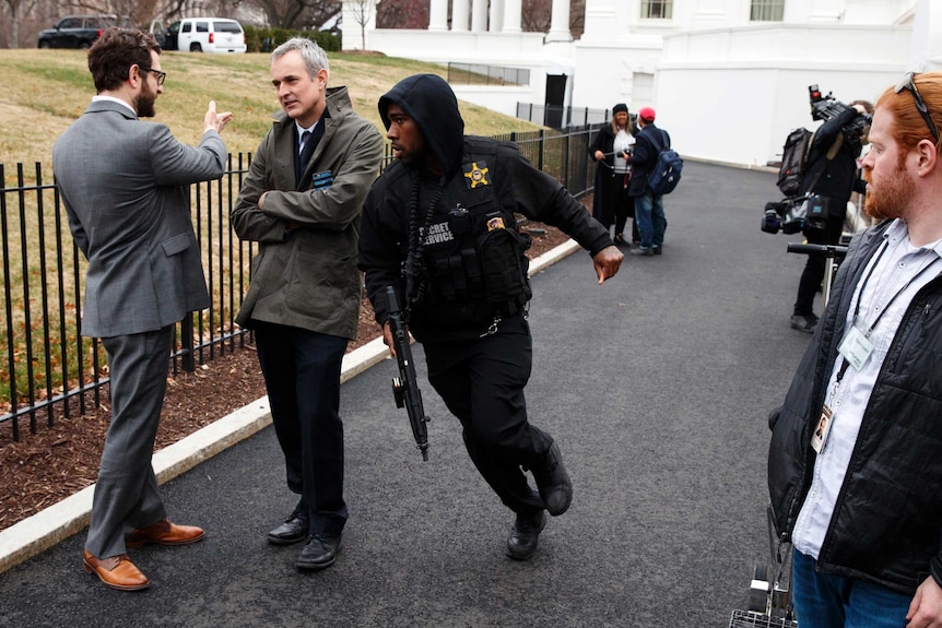
[[[530,242],[515,213],[556,226],[588,249],[599,284],[624,256],[516,145],[466,137],[458,100],[441,78],[402,80],[379,99],[379,115],[397,161],[363,208],[360,268],[376,321],[392,349],[385,295],[392,286],[424,345],[428,381],[461,422],[478,471],[516,514],[507,554],[528,559],[544,511],[565,512],[573,487],[553,437],[527,416]]]

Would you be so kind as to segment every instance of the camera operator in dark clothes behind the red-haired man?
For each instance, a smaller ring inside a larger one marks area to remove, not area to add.
[[[857,171],[857,157],[866,141],[868,127],[861,115],[872,115],[873,105],[853,100],[837,116],[824,122],[814,134],[809,154],[809,167],[801,181],[801,193],[813,193],[825,206],[823,220],[809,221],[804,236],[809,244],[836,245],[840,241],[847,201],[851,192],[863,193],[866,183]],[[813,333],[817,317],[813,311],[814,295],[824,280],[827,260],[809,254],[798,284],[798,297],[791,316],[791,327]]]

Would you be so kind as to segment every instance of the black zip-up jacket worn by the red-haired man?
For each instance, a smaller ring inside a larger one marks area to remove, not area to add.
[[[891,223],[856,236],[785,403],[769,415],[768,487],[789,540],[814,469],[811,434],[867,262]],[[817,565],[912,594],[942,533],[942,277],[914,297],[876,378]],[[938,558],[937,558],[938,560]]]

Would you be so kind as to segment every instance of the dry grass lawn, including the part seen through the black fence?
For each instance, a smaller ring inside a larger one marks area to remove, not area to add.
[[[36,185],[36,163],[42,165],[42,182],[52,182],[52,144],[95,94],[85,55],[82,50],[0,50],[0,165],[4,169],[0,183],[16,188],[17,164],[23,164],[24,188],[22,193],[10,191],[0,199],[5,200],[0,240],[7,253],[0,274],[12,288],[11,316],[4,321],[12,334],[0,328],[0,415],[10,408],[11,386],[24,401],[34,396],[30,393],[34,388],[35,396],[50,398],[75,386],[79,363],[86,374],[94,370],[92,342],[79,339],[75,324],[80,298],[76,280],[84,274],[85,260],[78,256],[72,263],[71,236],[61,208],[57,213],[52,190],[28,189]],[[384,129],[376,104],[393,84],[420,72],[445,74],[440,66],[381,56],[331,54],[329,59],[329,85],[346,85],[354,108],[380,132]],[[228,151],[234,155],[254,153],[271,127],[271,115],[280,109],[269,63],[267,54],[164,52],[161,66],[167,80],[154,120],[166,123],[178,140],[196,144],[202,135],[207,105],[214,99],[217,110],[234,114],[233,122],[223,131]],[[461,111],[469,133],[493,135],[539,128],[467,103],[461,104]],[[237,189],[214,192],[213,206],[227,206],[236,193]],[[193,187],[195,222],[199,220],[198,197],[208,197],[208,186]],[[214,225],[217,232],[207,233],[201,242],[208,275],[217,273],[213,301],[231,298],[238,304],[247,286],[227,285],[225,277],[247,280],[246,245],[227,237],[225,212]],[[239,256],[239,251],[245,254]],[[60,263],[64,269],[61,274],[56,272]],[[240,274],[229,274],[234,271],[231,263],[242,264]],[[5,296],[0,301],[0,312],[4,312]],[[199,333],[227,331],[226,308],[221,308],[212,329],[207,321],[197,325]]]

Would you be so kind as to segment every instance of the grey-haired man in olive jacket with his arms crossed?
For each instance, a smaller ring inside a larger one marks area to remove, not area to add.
[[[236,321],[256,332],[287,486],[301,496],[268,540],[305,541],[296,566],[309,570],[333,565],[346,522],[340,369],[360,315],[361,208],[382,158],[376,127],[353,111],[346,87],[327,87],[329,75],[309,39],[272,52],[283,111],[231,215],[239,238],[259,242]]]

